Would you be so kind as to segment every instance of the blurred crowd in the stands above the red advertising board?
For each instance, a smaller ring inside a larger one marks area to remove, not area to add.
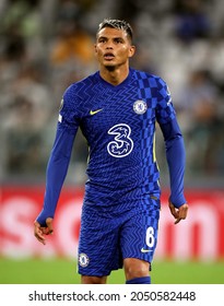
[[[169,85],[187,151],[186,180],[224,178],[224,5],[222,0],[1,0],[0,180],[45,179],[66,87],[97,70],[93,44],[104,17],[134,31],[131,66]],[[167,173],[162,134],[157,160]],[[79,131],[67,181],[85,180]]]

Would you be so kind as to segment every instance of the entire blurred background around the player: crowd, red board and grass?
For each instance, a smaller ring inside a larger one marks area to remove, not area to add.
[[[97,69],[94,35],[108,16],[133,26],[138,52],[131,64],[167,81],[185,137],[190,212],[176,227],[166,205],[168,173],[157,131],[163,205],[153,278],[224,283],[222,0],[0,1],[0,283],[79,283],[75,255],[87,156],[80,132],[56,234],[46,247],[33,237],[33,221],[42,207],[61,95]],[[115,273],[111,282],[122,278]]]

